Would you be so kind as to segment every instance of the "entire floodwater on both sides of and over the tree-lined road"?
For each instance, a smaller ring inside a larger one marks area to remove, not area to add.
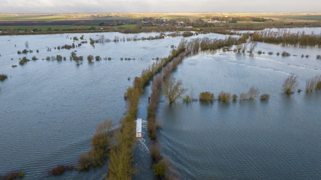
[[[137,37],[156,36],[142,33]],[[169,55],[171,45],[181,37],[158,40],[95,43],[102,33],[84,34],[88,44],[57,50],[70,45],[70,37],[82,34],[2,36],[0,37],[0,73],[8,79],[0,82],[0,175],[11,170],[25,172],[24,179],[102,179],[104,166],[89,172],[70,171],[63,176],[47,177],[46,171],[56,164],[77,163],[81,153],[90,148],[95,125],[111,119],[118,125],[124,115],[124,92],[135,76],[155,62],[152,58]],[[104,33],[133,37],[134,34]],[[202,34],[197,37],[225,38]],[[189,38],[194,38],[188,37]],[[17,54],[25,49],[33,53]],[[16,45],[16,47],[15,47]],[[51,51],[47,49],[51,48]],[[234,47],[230,47],[233,49]],[[39,53],[36,53],[36,50]],[[70,53],[84,57],[76,66]],[[298,76],[299,88],[305,89],[308,78],[321,74],[320,49],[310,46],[282,46],[258,43],[256,52],[265,54],[203,52],[188,57],[173,73],[193,92],[210,91],[217,98],[221,90],[231,94],[247,92],[251,86],[270,94],[261,102],[160,103],[163,128],[158,132],[163,155],[175,164],[182,179],[317,179],[321,176],[321,108],[320,92],[282,93],[282,83],[290,73]],[[268,52],[273,55],[268,55]],[[277,56],[286,51],[290,57]],[[42,58],[61,54],[66,61]],[[88,63],[88,55],[111,57]],[[301,58],[308,54],[310,58]],[[19,58],[31,59],[19,65]],[[135,58],[121,61],[120,58]],[[13,58],[13,60],[11,60]],[[12,68],[12,65],[18,67]],[[130,78],[128,80],[128,78]],[[137,117],[146,120],[150,86],[145,87]],[[164,99],[164,97],[161,97]],[[153,179],[149,156],[146,122],[143,139],[137,141],[133,179]]]

